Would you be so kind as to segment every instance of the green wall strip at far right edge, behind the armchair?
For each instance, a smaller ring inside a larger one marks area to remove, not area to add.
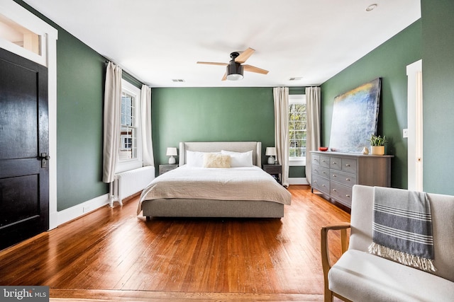
[[[423,190],[454,194],[454,1],[422,0]]]

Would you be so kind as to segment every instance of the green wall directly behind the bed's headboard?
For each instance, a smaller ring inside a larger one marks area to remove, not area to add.
[[[151,103],[155,165],[179,141],[262,141],[264,163],[275,145],[272,88],[153,88]]]

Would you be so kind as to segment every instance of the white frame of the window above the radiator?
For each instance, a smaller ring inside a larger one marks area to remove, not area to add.
[[[121,144],[123,142],[124,135],[121,134],[121,108],[120,108],[120,127],[118,128],[118,158],[117,158],[117,165],[115,169],[115,173],[120,173],[127,170],[133,170],[136,168],[141,168],[143,166],[143,158],[142,158],[142,129],[141,129],[141,121],[140,121],[140,89],[135,87],[133,84],[129,83],[128,81],[121,79],[121,95],[126,93],[131,95],[134,98],[135,102],[135,112],[134,112],[134,125],[135,128],[135,141],[136,141],[136,148],[137,148],[137,157],[136,158],[127,158],[127,159],[120,159],[120,152],[121,152]],[[121,102],[121,97],[120,97]],[[121,104],[120,104],[121,107]]]

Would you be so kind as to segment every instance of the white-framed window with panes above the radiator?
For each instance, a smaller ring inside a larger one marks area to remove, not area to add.
[[[140,89],[121,81],[120,149],[117,173],[142,166]]]

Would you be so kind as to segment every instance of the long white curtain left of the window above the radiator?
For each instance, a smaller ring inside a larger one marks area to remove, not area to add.
[[[114,181],[120,148],[121,68],[109,62],[104,91],[104,141],[102,181]]]

